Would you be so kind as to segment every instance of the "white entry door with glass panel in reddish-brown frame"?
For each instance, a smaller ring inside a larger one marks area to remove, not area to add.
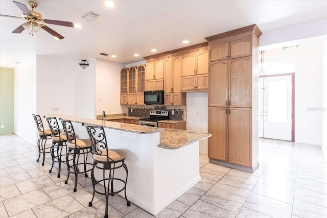
[[[294,141],[294,76],[260,76],[259,137]]]

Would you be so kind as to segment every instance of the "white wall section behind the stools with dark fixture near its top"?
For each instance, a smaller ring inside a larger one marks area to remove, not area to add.
[[[88,60],[85,69],[80,60],[36,57],[37,113],[95,117],[95,64]],[[55,111],[54,108],[58,108]]]

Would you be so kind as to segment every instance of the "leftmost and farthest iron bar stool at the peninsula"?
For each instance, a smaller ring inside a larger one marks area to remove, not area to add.
[[[44,166],[44,159],[45,159],[45,153],[50,153],[49,150],[51,148],[45,148],[45,143],[46,140],[51,139],[51,131],[49,129],[44,130],[43,128],[43,123],[40,115],[35,115],[34,113],[32,114],[36,127],[39,131],[39,139],[37,140],[37,147],[39,150],[39,157],[37,158],[36,162],[39,162],[41,152],[43,154],[43,161],[42,161],[42,166]],[[43,143],[44,142],[44,143]]]

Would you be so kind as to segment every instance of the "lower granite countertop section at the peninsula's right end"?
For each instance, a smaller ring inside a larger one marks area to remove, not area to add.
[[[210,133],[200,133],[188,130],[166,128],[160,133],[159,148],[179,149],[190,143],[211,137]]]

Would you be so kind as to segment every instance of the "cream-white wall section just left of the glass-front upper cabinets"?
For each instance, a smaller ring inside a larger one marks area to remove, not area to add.
[[[120,74],[123,64],[97,59],[96,61],[96,114],[126,113],[120,105]]]

